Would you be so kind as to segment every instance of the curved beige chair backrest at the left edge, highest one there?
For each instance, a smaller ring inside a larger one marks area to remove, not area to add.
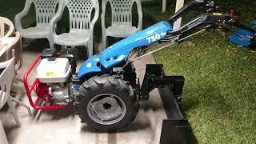
[[[8,31],[6,31],[6,26],[9,26]],[[14,24],[8,18],[0,17],[0,38],[7,38],[14,31]]]

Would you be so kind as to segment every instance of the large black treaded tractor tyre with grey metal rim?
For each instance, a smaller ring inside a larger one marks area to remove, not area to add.
[[[110,75],[84,82],[75,102],[76,114],[96,130],[125,127],[134,121],[138,109],[138,98],[129,82]]]

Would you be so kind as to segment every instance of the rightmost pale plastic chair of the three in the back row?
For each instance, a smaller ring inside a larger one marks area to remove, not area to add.
[[[112,11],[111,26],[106,28],[106,4],[110,2]],[[132,26],[132,6],[136,2],[138,8],[138,26]],[[102,43],[106,49],[106,37],[126,38],[142,30],[142,6],[140,0],[102,0]]]

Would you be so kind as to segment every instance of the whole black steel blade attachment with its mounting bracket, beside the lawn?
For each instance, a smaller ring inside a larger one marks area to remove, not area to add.
[[[162,64],[147,64],[140,89],[141,98],[147,100],[151,90],[158,88],[167,119],[162,121],[160,144],[187,143],[188,122],[182,114],[179,102],[185,78],[166,76]]]

